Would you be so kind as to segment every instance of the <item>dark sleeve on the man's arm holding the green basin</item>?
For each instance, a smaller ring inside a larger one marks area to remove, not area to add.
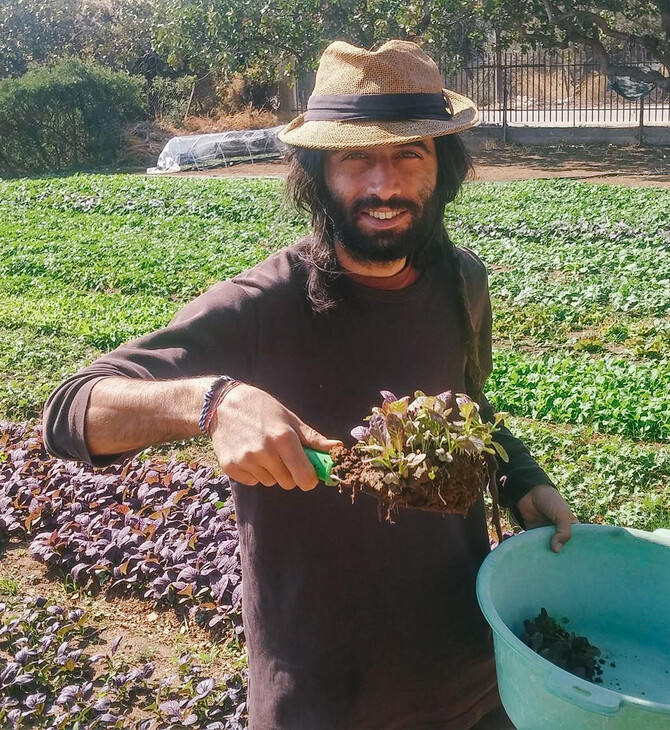
[[[471,256],[475,256],[471,251],[468,251],[468,253]],[[486,383],[493,370],[493,316],[486,267],[478,258],[476,260],[481,265],[481,269],[483,269],[483,275],[480,270],[478,291],[476,295],[471,295],[471,299],[473,300],[471,304],[474,318],[473,324],[475,325],[479,338],[479,365],[482,370],[484,383]],[[485,395],[482,395],[479,406],[482,419],[493,423],[493,407]],[[552,487],[555,487],[555,484],[549,479],[546,472],[539,466],[535,459],[533,459],[525,444],[513,436],[504,424],[500,424],[494,440],[505,449],[509,456],[508,462],[499,456],[496,457],[498,461],[498,495],[500,505],[510,509],[514,518],[523,527],[523,520],[516,508],[517,502],[538,484],[548,484]]]

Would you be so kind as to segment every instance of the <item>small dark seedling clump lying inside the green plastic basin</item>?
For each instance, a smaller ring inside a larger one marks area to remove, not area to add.
[[[568,623],[568,619],[562,621]],[[598,658],[600,649],[585,636],[566,631],[544,608],[536,618],[523,624],[525,631],[521,640],[540,656],[589,682],[600,684],[603,681],[601,664],[604,660]]]

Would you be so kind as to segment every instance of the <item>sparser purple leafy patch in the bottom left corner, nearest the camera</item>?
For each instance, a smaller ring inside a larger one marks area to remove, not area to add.
[[[57,638],[56,638],[57,637]],[[0,604],[0,727],[7,730],[243,730],[244,677],[202,675],[188,654],[177,674],[152,680],[151,663],[128,666],[106,653],[82,611],[38,597],[16,614]],[[46,648],[45,648],[46,647]]]

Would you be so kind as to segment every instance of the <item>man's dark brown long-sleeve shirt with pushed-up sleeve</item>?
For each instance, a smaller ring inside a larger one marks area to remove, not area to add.
[[[480,360],[491,368],[486,271],[460,250]],[[92,458],[84,414],[105,376],[229,374],[271,393],[303,421],[351,444],[381,389],[464,390],[465,349],[450,277],[435,266],[400,290],[349,282],[334,312],[314,315],[296,246],[221,282],[164,329],[66,380],[45,410],[54,454]],[[488,405],[484,404],[488,409]],[[502,502],[548,482],[520,441]],[[285,492],[232,483],[243,571],[253,730],[465,730],[498,702],[489,629],[475,579],[489,551],[483,501],[466,518],[404,511],[336,488]]]

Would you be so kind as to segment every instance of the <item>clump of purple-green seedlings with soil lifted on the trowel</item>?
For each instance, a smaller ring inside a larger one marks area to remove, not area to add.
[[[416,391],[396,398],[381,391],[383,402],[354,428],[351,450],[331,451],[332,476],[343,488],[378,498],[380,514],[391,520],[400,508],[466,515],[489,485],[497,518],[495,487],[498,454],[507,461],[493,435],[506,414],[494,423],[482,421],[479,406],[451,391],[428,396]]]

